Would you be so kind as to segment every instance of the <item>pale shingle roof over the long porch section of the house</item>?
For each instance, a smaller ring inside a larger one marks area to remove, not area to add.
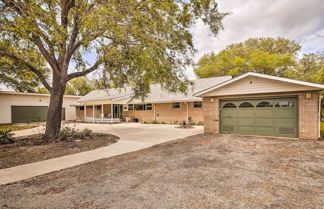
[[[172,93],[164,90],[160,84],[152,84],[150,86],[151,92],[145,98],[146,103],[163,103],[163,102],[181,102],[181,101],[201,101],[199,97],[193,96],[193,94],[200,92],[204,89],[210,88],[214,85],[221,84],[230,80],[231,76],[203,78],[193,80],[193,85],[188,87],[187,94]],[[133,92],[130,87],[124,89],[107,89],[107,90],[94,90],[89,94],[82,97],[78,102],[86,101],[101,101],[101,100],[116,100],[118,98],[130,97],[128,103],[142,103],[140,99],[131,99]]]

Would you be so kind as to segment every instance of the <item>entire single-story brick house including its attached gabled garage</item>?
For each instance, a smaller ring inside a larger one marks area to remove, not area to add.
[[[130,88],[95,90],[77,101],[76,118],[86,122],[188,121],[204,123],[205,133],[317,139],[324,85],[246,73],[197,79],[187,94],[158,84],[144,102]]]

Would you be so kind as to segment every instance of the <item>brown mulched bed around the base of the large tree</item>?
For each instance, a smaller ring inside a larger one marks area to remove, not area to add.
[[[63,141],[44,143],[40,135],[19,137],[14,144],[0,145],[0,169],[88,151],[117,142],[110,134],[69,136]]]

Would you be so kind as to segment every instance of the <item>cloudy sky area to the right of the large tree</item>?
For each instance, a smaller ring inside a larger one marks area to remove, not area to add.
[[[203,54],[219,52],[228,44],[253,37],[284,37],[302,45],[302,52],[324,50],[323,0],[219,0],[224,30],[211,35],[202,22],[192,28],[197,61]],[[187,70],[190,78],[192,69]]]

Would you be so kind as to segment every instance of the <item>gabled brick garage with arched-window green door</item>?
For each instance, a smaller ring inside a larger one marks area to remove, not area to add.
[[[194,94],[202,97],[205,133],[319,138],[324,85],[246,73]]]

